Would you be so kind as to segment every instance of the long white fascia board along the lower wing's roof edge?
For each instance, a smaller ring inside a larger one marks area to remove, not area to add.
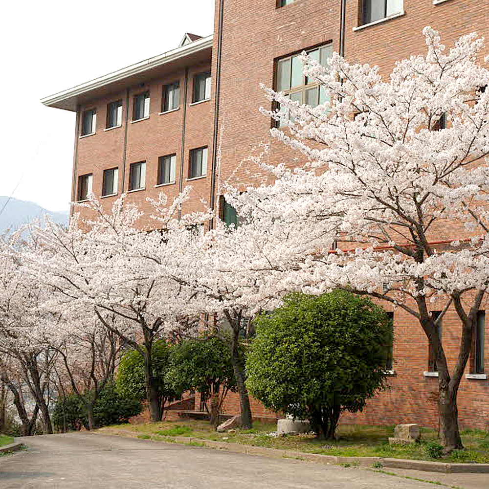
[[[95,78],[89,82],[77,85],[76,87],[44,97],[41,99],[41,103],[47,107],[52,107],[67,99],[78,97],[94,89],[99,89],[104,85],[124,80],[125,78],[129,78],[130,76],[137,75],[139,73],[144,73],[146,70],[158,67],[160,65],[165,65],[180,58],[184,58],[190,54],[208,49],[209,47],[212,47],[212,39],[213,35],[203,37],[202,39],[194,41],[193,43],[185,44],[184,46],[177,47],[176,49],[159,54],[153,58],[148,58],[147,60],[140,61],[134,65],[130,65],[117,71],[112,71],[112,73],[100,76],[99,78]],[[76,111],[76,109],[72,110]]]

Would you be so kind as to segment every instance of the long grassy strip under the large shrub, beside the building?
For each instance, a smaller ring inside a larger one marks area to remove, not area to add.
[[[111,426],[138,433],[138,438],[170,440],[172,436],[188,436],[208,440],[241,443],[245,445],[282,448],[324,455],[344,457],[385,457],[440,462],[489,463],[489,433],[481,430],[465,430],[461,433],[464,450],[454,450],[449,456],[434,458],[437,451],[436,431],[422,428],[422,442],[413,445],[390,446],[388,437],[393,436],[394,426],[363,426],[343,424],[336,431],[336,440],[327,442],[313,435],[289,435],[274,438],[276,423],[253,423],[253,429],[236,430],[235,433],[217,433],[206,421],[182,420],[145,424],[120,424]]]

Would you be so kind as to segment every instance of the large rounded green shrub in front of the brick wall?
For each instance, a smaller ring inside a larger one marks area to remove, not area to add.
[[[267,408],[308,419],[333,438],[340,412],[361,411],[384,385],[392,325],[367,298],[291,294],[256,319],[246,386]]]

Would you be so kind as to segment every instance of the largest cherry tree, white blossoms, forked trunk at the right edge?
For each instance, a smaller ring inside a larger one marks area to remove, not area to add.
[[[309,162],[271,169],[274,185],[234,205],[267,233],[264,296],[349,289],[416,318],[434,352],[440,438],[451,449],[462,446],[457,392],[489,283],[489,71],[475,34],[446,50],[436,31],[423,33],[426,55],[398,62],[388,80],[337,54],[326,68],[304,55],[329,101],[301,106],[267,89],[280,110],[263,111],[283,126],[272,135]],[[437,328],[450,308],[460,318],[453,365]]]

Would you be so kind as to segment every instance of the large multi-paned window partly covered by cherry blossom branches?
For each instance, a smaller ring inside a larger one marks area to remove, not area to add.
[[[307,54],[322,66],[327,67],[328,59],[333,54],[333,45],[328,44],[310,49]],[[316,107],[319,104],[324,104],[327,101],[326,91],[302,73],[303,64],[299,56],[300,53],[277,61],[275,89],[285,92],[290,100],[299,102],[301,105],[308,104],[311,107]],[[283,114],[284,120],[289,117],[286,111],[283,111]],[[283,122],[279,125],[283,125]]]

